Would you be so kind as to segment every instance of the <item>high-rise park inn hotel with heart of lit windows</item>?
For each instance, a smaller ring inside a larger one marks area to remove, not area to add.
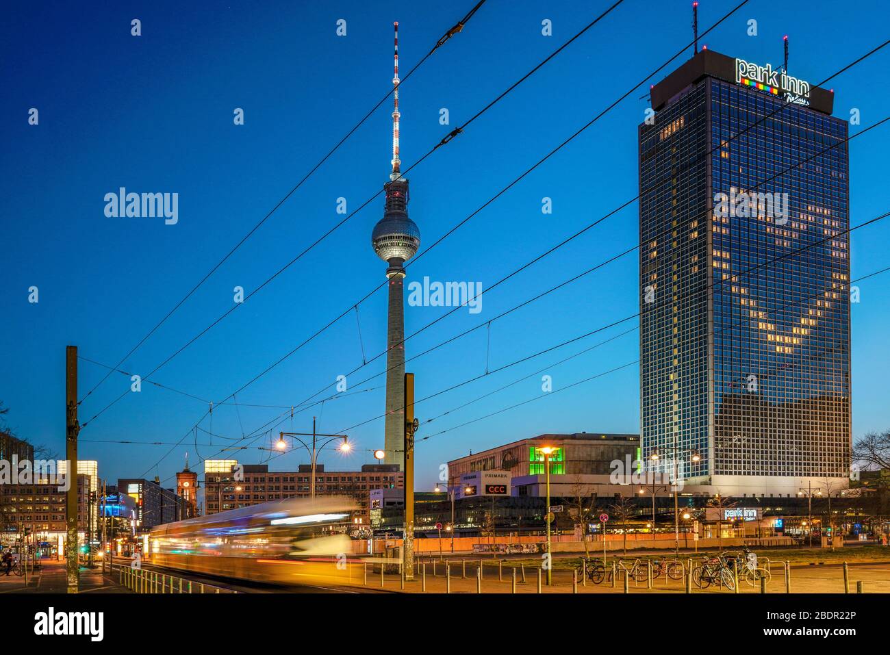
[[[706,50],[651,103],[643,459],[669,473],[676,454],[687,484],[724,496],[837,488],[850,470],[850,251],[833,94]]]

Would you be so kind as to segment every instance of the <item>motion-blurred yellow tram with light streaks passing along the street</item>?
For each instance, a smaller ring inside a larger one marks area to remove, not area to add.
[[[148,559],[223,578],[348,584],[355,509],[349,497],[288,498],[166,523],[151,530]]]

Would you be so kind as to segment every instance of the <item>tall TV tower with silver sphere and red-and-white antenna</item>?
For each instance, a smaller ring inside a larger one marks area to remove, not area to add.
[[[392,173],[384,184],[384,217],[374,226],[371,245],[389,264],[389,311],[386,322],[386,425],[384,464],[401,466],[405,438],[405,301],[402,280],[404,264],[420,247],[420,230],[408,217],[408,180],[401,175],[399,159],[399,23],[395,29],[394,75],[392,76]]]

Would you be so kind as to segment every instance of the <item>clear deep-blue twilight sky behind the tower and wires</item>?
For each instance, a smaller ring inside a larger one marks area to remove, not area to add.
[[[0,400],[21,436],[64,453],[65,345],[113,365],[282,198],[391,86],[392,21],[400,23],[404,75],[474,4],[360,2],[95,2],[27,3],[7,7],[0,26],[4,93],[0,103],[0,213],[4,257],[0,306]],[[455,126],[511,85],[602,12],[608,2],[489,0],[401,87],[401,153],[409,166]],[[703,0],[701,30],[737,2]],[[546,151],[611,104],[691,40],[689,2],[626,0],[553,61],[510,93],[465,133],[409,174],[409,213],[429,246]],[[765,64],[781,63],[790,37],[789,72],[820,82],[886,39],[883,0],[845,4],[752,0],[702,39],[708,47]],[[131,20],[142,36],[131,36]],[[346,21],[346,36],[336,21]],[[541,34],[552,20],[553,36]],[[748,36],[748,20],[757,36]],[[659,73],[654,81],[684,61]],[[890,48],[832,80],[835,115],[860,109],[855,133],[886,116]],[[488,289],[546,247],[634,198],[638,188],[636,128],[650,81],[534,173],[482,210],[409,267],[409,279],[481,282]],[[28,109],[39,124],[28,125]],[[242,108],[245,125],[233,124]],[[440,125],[440,109],[450,125]],[[233,305],[233,287],[250,293],[274,271],[381,189],[389,173],[390,104],[368,119],[276,214],[121,368],[147,375]],[[887,211],[884,125],[851,143],[851,222]],[[403,166],[403,167],[404,167]],[[108,218],[106,193],[179,194],[179,221]],[[542,198],[553,213],[542,214]],[[190,454],[235,441],[287,409],[336,392],[336,376],[362,364],[355,312],[339,320],[239,392],[241,405],[218,403],[272,362],[367,295],[385,265],[370,247],[382,215],[377,198],[236,311],[81,432],[81,458],[100,462],[102,477],[159,475],[166,484]],[[853,277],[890,265],[890,222],[854,232]],[[482,310],[466,309],[409,339],[408,356],[632,247],[632,204],[491,291]],[[886,429],[886,326],[890,291],[879,276],[862,283],[853,306],[854,434]],[[28,303],[28,287],[39,302]],[[637,311],[635,253],[514,311],[417,360],[417,398],[480,376]],[[385,347],[385,295],[360,304],[368,358]],[[407,307],[413,333],[448,308]],[[539,433],[639,431],[635,365],[560,392],[579,380],[633,362],[636,331],[555,363],[635,327],[627,321],[519,366],[442,393],[417,406],[417,487],[438,480],[440,465]],[[487,347],[487,344],[490,344]],[[543,370],[542,370],[543,369]],[[278,430],[337,433],[379,416],[384,358],[348,375],[349,393],[289,416]],[[80,362],[80,395],[105,369]],[[552,376],[554,392],[541,391]],[[527,377],[526,377],[527,376]],[[522,377],[526,379],[521,380]],[[371,379],[368,379],[371,378]],[[506,384],[521,380],[495,392]],[[114,373],[80,408],[84,423],[119,394],[128,376]],[[326,389],[326,385],[329,385]],[[362,391],[370,390],[370,391]],[[472,404],[471,400],[479,399]],[[542,397],[543,396],[543,397]],[[522,407],[463,425],[522,400]],[[230,401],[231,403],[231,401]],[[445,414],[446,412],[449,412]],[[441,416],[443,415],[444,416]],[[275,426],[278,422],[267,425]],[[374,461],[383,420],[349,430],[356,452],[326,453],[332,469]],[[463,425],[463,426],[462,426]],[[160,441],[130,445],[105,441]],[[196,445],[197,441],[197,445]],[[172,451],[171,451],[172,449]],[[259,449],[229,450],[242,462],[264,461]],[[162,461],[158,460],[165,456]],[[271,463],[293,470],[294,451]],[[201,467],[198,467],[203,470]]]

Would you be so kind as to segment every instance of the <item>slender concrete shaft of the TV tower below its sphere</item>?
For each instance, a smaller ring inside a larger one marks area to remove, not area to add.
[[[386,424],[384,464],[403,464],[405,441],[405,271],[390,269],[389,313],[386,327]]]

